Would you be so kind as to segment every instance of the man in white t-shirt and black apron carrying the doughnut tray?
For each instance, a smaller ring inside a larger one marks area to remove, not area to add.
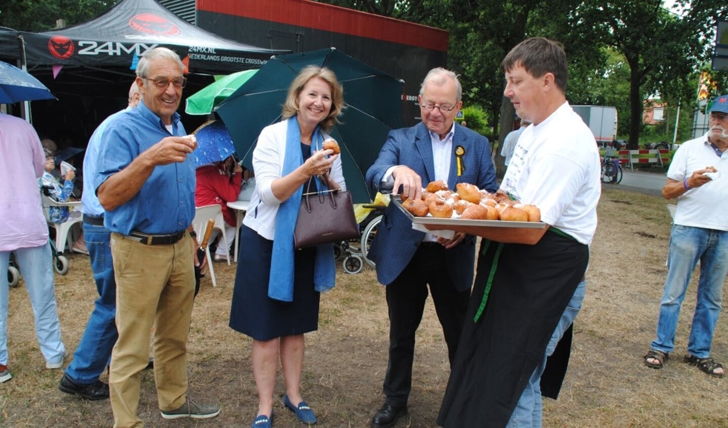
[[[566,102],[563,47],[528,39],[501,67],[505,96],[532,124],[518,139],[499,192],[537,205],[545,227],[456,229],[483,240],[468,321],[438,416],[445,428],[485,421],[488,427],[540,427],[541,395],[558,395],[566,373],[597,224],[599,153]]]

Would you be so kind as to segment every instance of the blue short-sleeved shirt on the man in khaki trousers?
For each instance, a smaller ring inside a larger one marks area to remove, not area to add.
[[[94,189],[111,175],[127,167],[143,151],[170,135],[183,136],[186,131],[180,115],[172,117],[170,134],[162,119],[143,102],[137,108],[123,111],[108,124],[99,151]],[[131,231],[146,234],[173,234],[183,231],[194,218],[194,161],[154,167],[149,178],[132,199],[116,210],[106,211],[104,226],[110,231],[128,235]]]

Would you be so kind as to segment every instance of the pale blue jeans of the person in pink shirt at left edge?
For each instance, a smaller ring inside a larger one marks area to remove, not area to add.
[[[53,283],[53,259],[50,244],[39,247],[12,250],[20,274],[25,280],[25,289],[31,298],[35,318],[36,337],[41,354],[47,363],[63,361],[66,347],[60,338],[60,322],[55,306],[55,285]],[[9,251],[0,251],[0,364],[7,365],[7,266]]]

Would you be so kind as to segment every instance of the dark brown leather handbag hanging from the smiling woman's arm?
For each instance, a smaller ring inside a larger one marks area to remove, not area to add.
[[[311,180],[309,179],[309,183]],[[326,183],[328,179],[322,178]],[[309,189],[306,185],[304,189]],[[348,191],[325,190],[303,194],[298,210],[293,245],[296,249],[347,241],[359,237],[352,194]]]

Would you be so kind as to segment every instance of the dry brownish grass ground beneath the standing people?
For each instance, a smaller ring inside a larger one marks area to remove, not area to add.
[[[665,278],[670,218],[659,197],[605,188],[592,245],[587,296],[575,325],[574,350],[559,400],[545,400],[545,427],[728,427],[728,383],[680,361],[695,307],[687,293],[674,359],[646,368],[642,355],[654,335]],[[75,349],[92,309],[95,288],[87,258],[69,255],[71,272],[56,277],[63,339]],[[207,421],[159,416],[154,376],[142,376],[139,412],[148,427],[247,427],[256,412],[250,340],[227,326],[235,265],[216,263],[195,302],[189,336],[190,394],[216,402]],[[10,290],[8,318],[13,379],[0,384],[0,427],[111,427],[107,400],[76,400],[58,391],[60,370],[46,370],[28,297]],[[371,269],[339,268],[339,285],[322,297],[320,329],[306,336],[304,396],[320,427],[368,427],[382,401],[387,366],[387,306]],[[728,362],[728,328],[719,320],[713,355]],[[418,333],[410,413],[397,427],[435,427],[448,378],[446,346],[431,304]],[[106,380],[104,376],[102,379]],[[282,394],[282,379],[277,394]],[[275,405],[276,427],[301,427]]]

